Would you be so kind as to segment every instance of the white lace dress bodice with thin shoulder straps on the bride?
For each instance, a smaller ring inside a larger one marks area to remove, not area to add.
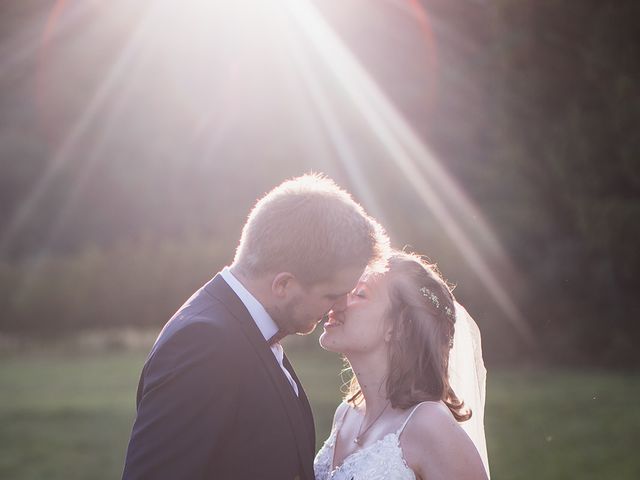
[[[333,427],[329,438],[318,451],[313,462],[316,480],[415,480],[400,448],[400,435],[421,403],[413,407],[402,426],[360,450],[347,456],[341,465],[333,466],[336,436],[348,408]]]

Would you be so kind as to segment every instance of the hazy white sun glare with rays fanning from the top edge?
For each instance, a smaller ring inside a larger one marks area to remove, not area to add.
[[[437,45],[430,33],[429,17],[418,2],[396,4],[422,31],[424,49],[432,68],[436,68]],[[333,6],[341,5],[338,2]],[[379,8],[374,2],[349,5],[357,9],[352,21],[376,14]],[[358,140],[345,126],[348,116],[349,121],[359,123],[361,132],[366,132],[366,142],[378,145],[388,162],[402,172],[407,185],[438,220],[514,327],[525,339],[533,338],[476,248],[481,243],[492,258],[508,262],[481,212],[314,2],[115,0],[87,2],[80,7],[76,2],[58,1],[34,45],[40,49],[41,117],[45,123],[64,116],[73,120],[66,124],[56,141],[53,159],[3,232],[1,248],[27,224],[70,159],[82,156],[85,161],[59,209],[50,231],[52,238],[78,201],[84,180],[96,165],[108,161],[110,141],[117,136],[114,128],[126,122],[129,130],[146,132],[150,125],[163,125],[167,117],[171,120],[167,142],[203,141],[207,155],[213,156],[212,149],[229,131],[261,130],[266,123],[258,124],[255,118],[278,118],[274,115],[286,112],[296,119],[295,134],[307,143],[309,155],[323,162],[327,157],[337,158],[359,198],[384,221],[385,216],[396,212],[385,211],[368,185],[363,174],[366,159],[361,158]],[[29,48],[23,46],[25,51]],[[108,55],[96,57],[94,51]],[[92,62],[90,73],[96,80],[89,82],[91,90],[82,107],[66,111],[69,107],[58,105],[55,99],[69,88],[69,77],[88,75],[81,65],[87,60]],[[286,105],[274,94],[282,91],[288,96]],[[275,136],[277,123],[269,122],[268,131],[262,134]],[[313,167],[322,169],[323,165]]]

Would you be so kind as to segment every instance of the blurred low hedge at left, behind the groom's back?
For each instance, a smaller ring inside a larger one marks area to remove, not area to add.
[[[162,325],[225,263],[215,239],[121,243],[0,269],[0,330],[61,335]]]

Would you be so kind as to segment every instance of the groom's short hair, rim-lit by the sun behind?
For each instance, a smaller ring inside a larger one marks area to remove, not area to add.
[[[242,229],[234,265],[246,275],[290,272],[310,285],[337,270],[383,263],[384,229],[335,182],[307,174],[262,197]]]

